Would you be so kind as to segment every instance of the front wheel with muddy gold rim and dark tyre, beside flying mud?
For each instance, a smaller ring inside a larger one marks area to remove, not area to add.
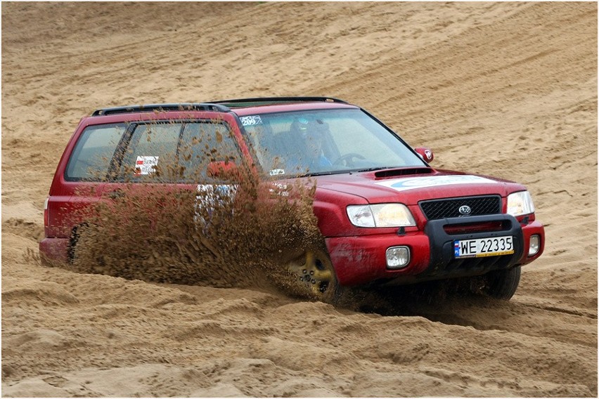
[[[340,287],[333,263],[322,249],[308,249],[288,261],[288,270],[297,278],[299,289],[311,299],[334,303]]]

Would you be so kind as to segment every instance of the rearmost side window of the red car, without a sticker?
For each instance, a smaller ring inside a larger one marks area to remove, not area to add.
[[[67,181],[105,181],[112,157],[126,130],[124,124],[88,126],[77,140],[65,179]]]

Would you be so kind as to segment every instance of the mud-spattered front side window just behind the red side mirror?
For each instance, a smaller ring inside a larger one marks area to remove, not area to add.
[[[236,138],[222,122],[188,123],[183,129],[179,164],[186,181],[206,181],[210,162],[228,161],[240,164]]]

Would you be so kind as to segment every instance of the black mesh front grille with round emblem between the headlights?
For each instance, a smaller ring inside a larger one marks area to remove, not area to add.
[[[432,199],[419,202],[420,209],[427,220],[442,218],[457,218],[460,216],[477,216],[501,214],[501,197],[487,195],[484,197],[460,197],[446,199]],[[460,214],[460,207],[470,207],[470,214]]]

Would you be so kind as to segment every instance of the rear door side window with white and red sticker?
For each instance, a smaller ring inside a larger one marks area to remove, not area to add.
[[[176,179],[176,150],[181,123],[139,124],[124,153],[121,171],[126,180]]]

